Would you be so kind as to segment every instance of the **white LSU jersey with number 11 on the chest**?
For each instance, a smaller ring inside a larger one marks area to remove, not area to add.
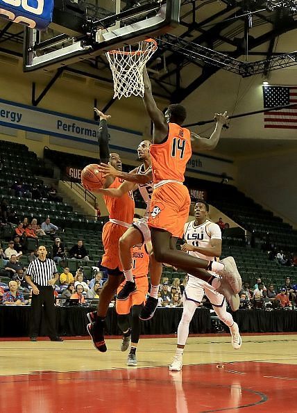
[[[195,221],[187,222],[184,229],[185,241],[194,245],[194,247],[210,248],[210,240],[221,239],[221,229],[219,225],[210,220],[206,220],[201,225],[194,225]],[[188,251],[188,254],[193,255],[207,261],[215,261],[216,257],[209,257],[201,254],[201,252]]]

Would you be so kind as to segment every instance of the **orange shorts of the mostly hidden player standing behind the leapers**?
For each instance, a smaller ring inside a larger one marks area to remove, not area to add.
[[[125,284],[126,280],[121,283],[117,289],[117,293],[121,291]],[[117,314],[129,314],[131,307],[133,305],[141,305],[146,302],[146,294],[148,293],[148,277],[147,275],[141,275],[140,277],[135,278],[135,283],[137,286],[137,291],[134,294],[131,294],[129,298],[125,301],[117,300],[115,303],[115,309]]]

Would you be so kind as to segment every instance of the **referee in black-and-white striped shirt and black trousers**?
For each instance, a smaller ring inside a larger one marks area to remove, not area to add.
[[[26,282],[32,287],[32,317],[31,341],[37,341],[42,316],[42,305],[48,321],[48,332],[51,341],[62,341],[56,332],[56,311],[54,305],[53,285],[56,284],[59,274],[52,259],[46,258],[46,248],[40,245],[38,258],[32,261],[26,273]]]

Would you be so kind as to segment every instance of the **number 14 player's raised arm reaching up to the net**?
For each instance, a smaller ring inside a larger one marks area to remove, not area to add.
[[[144,66],[143,74],[144,74],[143,101],[144,101],[144,106],[146,108],[146,112],[148,113],[148,116],[153,121],[155,129],[158,129],[160,131],[164,131],[164,133],[167,133],[168,131],[167,122],[166,122],[166,119],[162,111],[160,111],[158,106],[155,104],[155,99],[153,98],[153,93],[151,92],[151,81],[148,77],[148,72],[145,66]]]

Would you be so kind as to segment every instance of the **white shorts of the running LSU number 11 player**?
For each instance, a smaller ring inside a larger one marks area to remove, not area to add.
[[[210,274],[214,274],[208,271]],[[185,287],[183,293],[183,302],[185,300],[194,301],[197,304],[202,302],[203,295],[206,295],[208,300],[210,300],[211,305],[214,307],[222,307],[225,302],[225,297],[215,291],[214,287],[199,278],[189,275],[189,281]]]

